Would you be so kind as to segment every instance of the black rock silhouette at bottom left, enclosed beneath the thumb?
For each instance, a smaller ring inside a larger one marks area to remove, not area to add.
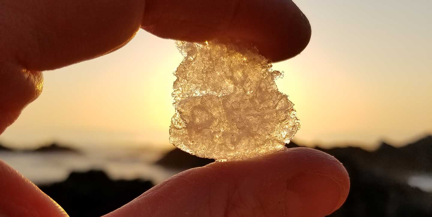
[[[150,181],[110,179],[103,171],[73,172],[64,182],[39,186],[70,217],[99,217],[152,188]]]

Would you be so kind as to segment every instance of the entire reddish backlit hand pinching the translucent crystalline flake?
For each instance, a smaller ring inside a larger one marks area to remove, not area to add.
[[[0,133],[41,94],[42,71],[117,50],[140,28],[196,42],[241,39],[273,61],[299,54],[311,36],[290,0],[0,0]],[[321,217],[348,191],[334,157],[294,148],[187,170],[106,217]],[[67,216],[1,160],[0,194],[2,217]]]

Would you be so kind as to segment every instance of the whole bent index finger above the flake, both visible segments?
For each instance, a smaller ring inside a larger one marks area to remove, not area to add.
[[[11,1],[0,13],[0,26],[9,30],[0,32],[5,55],[35,71],[102,56],[140,27],[194,42],[240,39],[273,61],[299,54],[311,37],[308,19],[291,0]]]

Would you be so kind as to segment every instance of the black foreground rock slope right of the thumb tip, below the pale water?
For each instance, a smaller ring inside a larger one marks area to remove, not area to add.
[[[432,194],[343,162],[350,191],[342,207],[330,217],[429,217]]]

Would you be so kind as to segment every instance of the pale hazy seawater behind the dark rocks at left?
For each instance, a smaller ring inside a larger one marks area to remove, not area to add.
[[[167,150],[108,148],[83,153],[0,151],[0,159],[36,184],[60,182],[72,171],[104,170],[111,179],[145,179],[157,184],[181,171],[155,165]]]

